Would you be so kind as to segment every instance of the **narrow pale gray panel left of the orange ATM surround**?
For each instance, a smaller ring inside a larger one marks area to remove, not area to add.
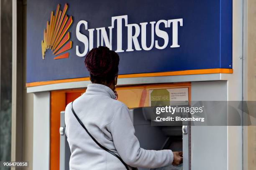
[[[50,92],[34,93],[33,170],[49,170]]]

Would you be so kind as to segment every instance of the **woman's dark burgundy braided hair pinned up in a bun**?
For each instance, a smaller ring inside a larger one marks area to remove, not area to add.
[[[100,46],[90,50],[84,63],[93,76],[114,76],[118,72],[119,56],[108,47]]]

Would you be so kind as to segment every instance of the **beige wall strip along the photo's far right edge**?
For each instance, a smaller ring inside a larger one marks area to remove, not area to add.
[[[256,101],[256,0],[245,2],[245,100]],[[256,126],[248,126],[246,130],[244,167],[256,170]]]

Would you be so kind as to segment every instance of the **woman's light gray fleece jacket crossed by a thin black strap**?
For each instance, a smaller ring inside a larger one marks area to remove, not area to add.
[[[88,85],[86,92],[74,100],[73,108],[92,136],[119,155],[126,164],[141,168],[172,164],[171,150],[140,148],[127,106],[115,100],[115,94],[109,87]],[[100,148],[90,138],[74,117],[71,103],[65,110],[65,123],[71,150],[70,170],[125,170],[118,158]]]

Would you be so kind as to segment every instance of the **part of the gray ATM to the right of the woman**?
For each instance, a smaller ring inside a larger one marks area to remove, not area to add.
[[[151,115],[155,107],[138,107],[131,109],[131,117],[135,128],[135,135],[140,141],[141,148],[146,150],[183,151],[183,163],[179,166],[155,168],[154,170],[190,170],[189,135],[190,127],[187,122],[163,125],[161,122],[152,124]],[[155,121],[155,120],[152,120]],[[159,125],[157,125],[159,123]],[[139,170],[149,170],[139,168]]]

